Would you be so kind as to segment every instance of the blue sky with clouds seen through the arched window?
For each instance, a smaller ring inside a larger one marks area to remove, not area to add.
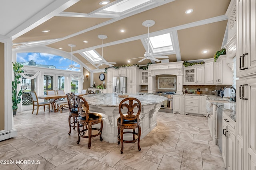
[[[54,65],[57,69],[67,70],[66,66],[71,64],[70,59],[58,55],[47,53],[18,53],[17,62],[27,62],[33,60],[36,64]],[[74,66],[80,67],[80,64],[72,62]],[[63,68],[64,67],[64,68]]]

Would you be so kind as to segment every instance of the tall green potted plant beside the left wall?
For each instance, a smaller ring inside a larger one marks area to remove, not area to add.
[[[20,73],[23,73],[22,70],[23,65],[17,62],[12,63],[13,65],[13,74],[14,74],[14,81],[12,82],[12,114],[16,115],[16,111],[18,109],[18,104],[21,101],[22,96],[22,88],[18,91],[18,84],[21,84]]]

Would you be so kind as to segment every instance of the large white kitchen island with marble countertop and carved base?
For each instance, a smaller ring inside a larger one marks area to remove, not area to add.
[[[89,94],[83,96],[89,104],[90,112],[102,115],[102,138],[109,143],[116,143],[117,125],[116,119],[120,117],[118,106],[124,98],[119,98],[116,93]],[[156,113],[161,107],[161,102],[167,100],[163,96],[129,94],[129,97],[140,100],[142,109],[140,112],[141,139],[156,127]],[[100,125],[95,125],[99,128]],[[138,130],[138,129],[136,129]],[[126,136],[131,137],[131,136]]]

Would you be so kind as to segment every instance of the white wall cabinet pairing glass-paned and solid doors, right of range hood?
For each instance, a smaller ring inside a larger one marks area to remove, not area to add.
[[[184,68],[184,84],[204,84],[204,66]]]

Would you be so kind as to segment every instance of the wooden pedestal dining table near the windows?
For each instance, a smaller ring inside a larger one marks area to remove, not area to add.
[[[86,94],[81,94],[81,93],[76,93],[76,96],[84,96]],[[51,95],[40,95],[37,96],[38,99],[44,99],[50,101],[52,107],[53,107],[53,112],[58,112],[58,108],[56,108],[56,100],[61,99],[61,98],[66,98],[66,94],[51,94]]]

